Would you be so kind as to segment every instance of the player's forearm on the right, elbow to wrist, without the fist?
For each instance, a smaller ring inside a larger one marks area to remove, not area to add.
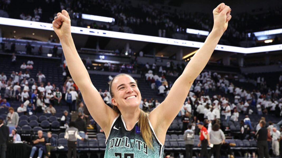
[[[219,30],[212,30],[210,35],[208,35],[204,45],[196,52],[183,71],[182,75],[184,75],[188,81],[193,82],[204,67],[206,67],[222,35],[223,32]]]

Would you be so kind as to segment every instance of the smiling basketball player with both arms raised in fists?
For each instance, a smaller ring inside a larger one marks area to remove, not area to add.
[[[126,74],[116,75],[109,82],[113,109],[104,103],[74,46],[69,14],[65,10],[57,14],[52,22],[53,29],[60,38],[70,74],[80,88],[90,114],[105,132],[105,157],[163,157],[168,127],[227,29],[230,12],[230,7],[224,3],[213,10],[214,25],[206,42],[175,81],[166,99],[150,114],[139,109],[140,91],[136,81]]]

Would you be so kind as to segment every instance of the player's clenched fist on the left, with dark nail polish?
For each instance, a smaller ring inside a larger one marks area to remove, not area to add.
[[[69,13],[66,10],[62,10],[61,13],[58,13],[52,22],[53,29],[59,39],[71,37],[70,33],[70,17]]]

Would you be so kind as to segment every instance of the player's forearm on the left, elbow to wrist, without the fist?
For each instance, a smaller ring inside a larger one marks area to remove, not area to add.
[[[84,83],[91,83],[89,74],[76,51],[72,36],[60,39],[65,59],[74,82],[81,89]],[[87,82],[86,82],[87,81]]]

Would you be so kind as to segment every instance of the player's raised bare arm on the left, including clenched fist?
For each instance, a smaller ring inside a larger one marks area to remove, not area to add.
[[[78,55],[70,31],[70,17],[66,10],[57,14],[52,22],[53,29],[58,35],[67,61],[72,79],[79,87],[85,104],[94,120],[104,130],[109,132],[109,126],[117,116],[116,112],[107,106],[100,93],[94,87],[89,74]]]

